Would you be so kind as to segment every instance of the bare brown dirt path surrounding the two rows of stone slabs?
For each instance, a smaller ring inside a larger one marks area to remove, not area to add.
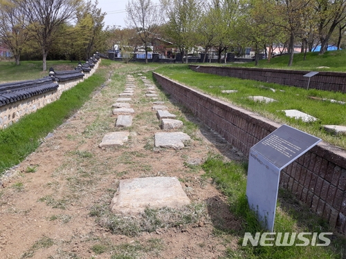
[[[117,71],[121,67],[113,73]],[[237,237],[223,231],[237,231],[241,223],[199,165],[208,153],[222,154],[226,160],[240,160],[242,154],[160,90],[158,100],[184,120],[182,131],[192,140],[181,150],[155,148],[161,122],[138,73],[129,73],[136,79],[133,126],[115,128],[116,117],[111,115],[111,105],[125,89],[127,73],[122,73],[111,77],[3,179],[0,258],[224,258],[228,249],[236,249]],[[99,148],[111,131],[129,131],[129,142]],[[149,176],[178,178],[194,205],[170,211],[177,213],[170,222],[162,211],[146,218],[112,218],[108,208],[119,180]],[[183,221],[179,215],[192,220]]]

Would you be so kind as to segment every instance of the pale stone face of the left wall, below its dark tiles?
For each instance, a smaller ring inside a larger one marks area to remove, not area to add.
[[[37,109],[50,104],[60,98],[60,95],[66,90],[69,90],[84,81],[86,78],[90,77],[95,73],[98,68],[96,63],[90,72],[84,72],[84,77],[82,79],[73,79],[69,81],[58,81],[59,87],[57,90],[53,90],[49,93],[42,93],[40,95],[35,95],[28,99],[22,99],[17,102],[10,103],[5,106],[0,107],[0,128],[7,128],[23,117],[26,114],[33,113]]]

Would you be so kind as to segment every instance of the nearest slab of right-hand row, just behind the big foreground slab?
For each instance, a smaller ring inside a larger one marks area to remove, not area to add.
[[[155,146],[161,148],[181,149],[183,141],[191,140],[190,136],[183,132],[155,133]]]

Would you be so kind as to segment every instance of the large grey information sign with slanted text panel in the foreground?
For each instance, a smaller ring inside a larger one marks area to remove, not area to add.
[[[246,195],[262,226],[273,231],[280,171],[320,142],[320,138],[282,125],[251,147]]]

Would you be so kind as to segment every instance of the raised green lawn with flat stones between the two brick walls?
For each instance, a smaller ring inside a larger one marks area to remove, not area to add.
[[[268,119],[282,124],[288,124],[301,131],[316,135],[326,142],[346,148],[346,136],[334,136],[322,129],[322,125],[346,126],[346,105],[335,102],[311,99],[310,97],[336,99],[346,102],[345,93],[335,93],[323,90],[282,86],[254,80],[237,79],[197,73],[188,65],[167,65],[156,70],[156,73],[170,77],[182,84],[201,90],[203,93],[224,99],[226,102],[259,113]],[[273,92],[274,89],[275,92]],[[222,93],[222,90],[237,90],[237,93]],[[250,96],[264,96],[275,99],[276,102],[254,102]],[[301,119],[286,117],[284,111],[295,109],[318,118],[316,122],[302,122]]]

